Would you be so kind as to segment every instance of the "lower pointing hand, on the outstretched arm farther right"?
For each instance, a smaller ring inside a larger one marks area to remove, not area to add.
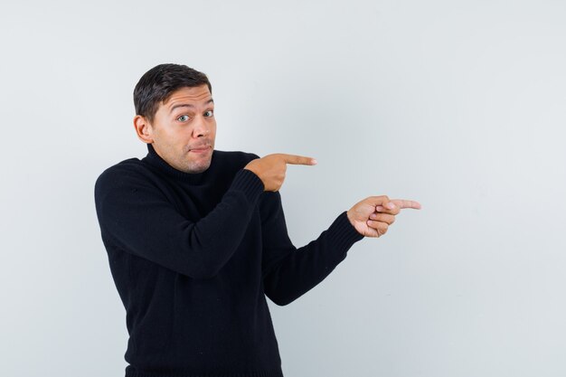
[[[420,203],[404,199],[390,200],[387,195],[370,196],[355,203],[347,212],[355,230],[365,237],[380,237],[387,232],[401,209],[420,210]]]

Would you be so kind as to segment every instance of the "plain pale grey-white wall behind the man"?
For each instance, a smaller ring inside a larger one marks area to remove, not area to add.
[[[422,204],[269,302],[286,376],[566,375],[563,1],[6,3],[0,374],[123,375],[94,182],[146,155],[132,91],[175,62],[216,149],[318,160],[280,190],[297,247],[367,196]]]

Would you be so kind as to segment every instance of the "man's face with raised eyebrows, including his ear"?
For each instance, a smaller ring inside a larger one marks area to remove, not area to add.
[[[157,155],[185,173],[203,173],[211,165],[216,119],[208,86],[175,90],[159,104],[151,124],[136,116],[137,137],[153,143]]]

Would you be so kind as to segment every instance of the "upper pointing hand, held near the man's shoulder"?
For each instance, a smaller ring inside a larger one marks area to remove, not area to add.
[[[275,153],[251,160],[244,169],[259,176],[265,186],[264,191],[278,191],[285,180],[287,164],[316,165],[316,160],[311,157]]]

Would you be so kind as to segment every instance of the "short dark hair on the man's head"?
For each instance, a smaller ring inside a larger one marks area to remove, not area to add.
[[[183,64],[159,64],[137,81],[134,89],[136,114],[153,122],[159,103],[165,102],[175,90],[184,87],[208,86],[212,94],[212,85],[203,72],[193,70]]]

